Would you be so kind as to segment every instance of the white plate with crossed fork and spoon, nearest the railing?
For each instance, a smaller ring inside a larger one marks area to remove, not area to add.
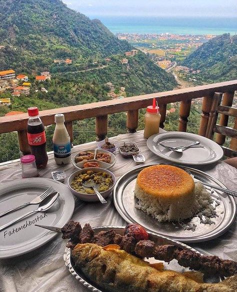
[[[195,141],[199,141],[203,148],[194,147],[177,153],[165,149],[159,145],[162,143],[169,147],[187,146]],[[214,141],[205,137],[184,133],[184,132],[168,132],[155,134],[147,139],[147,147],[161,158],[172,162],[190,165],[204,165],[218,161],[223,156],[222,148]]]

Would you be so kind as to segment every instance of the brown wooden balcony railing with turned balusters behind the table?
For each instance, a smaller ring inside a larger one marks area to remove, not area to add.
[[[136,131],[138,125],[138,110],[145,108],[152,103],[152,98],[156,98],[160,107],[160,127],[164,127],[166,116],[166,105],[173,102],[180,102],[179,108],[179,131],[186,131],[188,116],[190,113],[191,101],[196,98],[202,99],[202,114],[200,119],[200,127],[198,134],[206,136],[207,125],[210,117],[214,93],[222,93],[222,104],[218,106],[217,114],[220,113],[220,122],[218,126],[214,126],[213,131],[217,132],[216,142],[223,145],[225,135],[232,137],[231,148],[234,155],[237,153],[237,122],[235,116],[234,128],[229,130],[227,126],[229,113],[235,113],[232,108],[234,91],[237,90],[237,80],[191,87],[186,89],[178,89],[166,92],[146,94],[140,96],[128,97],[122,100],[102,101],[90,104],[77,106],[69,106],[52,110],[40,111],[39,115],[45,126],[54,123],[54,115],[63,113],[65,116],[65,125],[69,133],[71,142],[73,141],[72,122],[86,118],[95,117],[96,126],[95,133],[97,140],[102,140],[107,134],[107,115],[119,112],[127,112],[126,126],[129,133]],[[21,114],[15,116],[0,117],[0,134],[17,131],[19,148],[22,153],[28,153],[29,147],[26,138],[26,125],[28,115]],[[208,132],[210,130],[208,129]],[[229,154],[229,149],[224,149],[225,153]],[[232,154],[231,154],[232,155]]]

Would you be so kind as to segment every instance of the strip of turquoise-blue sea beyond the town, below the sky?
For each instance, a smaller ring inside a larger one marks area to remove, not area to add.
[[[236,18],[98,17],[113,33],[221,35],[237,33]]]

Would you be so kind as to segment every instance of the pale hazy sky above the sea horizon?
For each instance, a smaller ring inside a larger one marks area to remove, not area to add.
[[[62,0],[90,18],[104,16],[236,17],[237,0]]]

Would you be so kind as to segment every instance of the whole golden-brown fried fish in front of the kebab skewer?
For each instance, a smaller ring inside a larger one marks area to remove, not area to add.
[[[237,274],[217,284],[200,283],[188,273],[159,270],[119,248],[77,244],[71,258],[91,282],[108,292],[237,292]]]

